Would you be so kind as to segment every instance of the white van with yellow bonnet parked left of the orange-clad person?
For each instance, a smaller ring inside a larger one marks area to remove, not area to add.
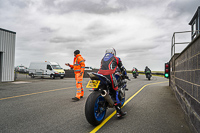
[[[56,62],[31,62],[29,66],[29,76],[31,76],[31,78],[39,76],[41,78],[50,77],[55,79],[55,77],[60,77],[63,79],[65,71]]]

